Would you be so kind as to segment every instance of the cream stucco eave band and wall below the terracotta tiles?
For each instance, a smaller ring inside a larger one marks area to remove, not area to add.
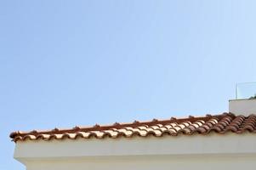
[[[255,169],[251,133],[132,139],[65,139],[16,144],[27,170]]]

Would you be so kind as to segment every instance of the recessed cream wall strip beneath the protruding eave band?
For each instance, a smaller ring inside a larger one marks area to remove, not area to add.
[[[245,170],[256,167],[253,156],[134,156],[84,160],[34,161],[27,170]]]

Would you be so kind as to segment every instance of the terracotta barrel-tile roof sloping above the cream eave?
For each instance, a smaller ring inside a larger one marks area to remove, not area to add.
[[[235,116],[232,113],[221,115],[207,115],[201,117],[189,116],[187,118],[174,118],[156,120],[151,122],[114,123],[113,125],[94,127],[73,127],[48,131],[14,132],[10,138],[17,141],[52,140],[52,139],[104,139],[104,138],[131,138],[134,136],[147,137],[150,135],[162,137],[163,135],[177,136],[208,133],[256,133],[256,115]]]

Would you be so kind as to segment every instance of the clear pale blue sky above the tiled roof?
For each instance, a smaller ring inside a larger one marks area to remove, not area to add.
[[[255,1],[0,1],[0,169],[14,130],[228,111],[256,80]]]

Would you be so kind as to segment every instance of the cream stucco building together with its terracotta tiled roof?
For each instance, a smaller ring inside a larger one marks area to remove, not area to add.
[[[237,105],[230,102],[234,111]],[[241,114],[18,131],[10,137],[14,158],[27,170],[255,169],[256,115],[239,109]]]

